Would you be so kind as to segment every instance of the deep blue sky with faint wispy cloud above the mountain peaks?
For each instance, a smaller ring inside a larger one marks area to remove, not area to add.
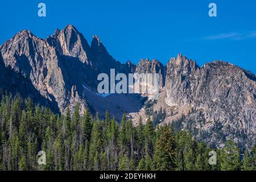
[[[39,18],[38,3],[47,6]],[[210,2],[217,18],[208,16]],[[181,52],[203,65],[224,60],[256,73],[256,1],[0,1],[0,44],[29,29],[40,38],[73,24],[89,44],[98,35],[117,60],[158,59]]]

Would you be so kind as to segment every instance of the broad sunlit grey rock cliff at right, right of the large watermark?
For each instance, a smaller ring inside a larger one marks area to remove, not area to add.
[[[191,130],[199,140],[207,140],[218,147],[227,139],[242,145],[253,144],[256,139],[256,82],[253,77],[223,61],[199,68],[195,61],[179,55],[167,65],[165,102],[173,106],[177,114],[183,108],[188,109],[180,128]]]

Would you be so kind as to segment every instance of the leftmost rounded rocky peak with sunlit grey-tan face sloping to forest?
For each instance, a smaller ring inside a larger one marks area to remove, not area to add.
[[[6,67],[31,80],[40,94],[63,111],[68,103],[69,85],[60,55],[45,40],[36,38],[30,31],[21,31],[1,46]]]

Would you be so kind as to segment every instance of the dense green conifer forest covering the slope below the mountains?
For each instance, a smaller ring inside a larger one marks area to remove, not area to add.
[[[118,124],[108,111],[105,120],[80,115],[78,103],[73,115],[57,115],[30,98],[1,95],[0,170],[256,170],[256,147],[241,152],[229,140],[212,149],[150,119],[134,126],[124,115]],[[211,150],[217,165],[208,163]],[[46,165],[38,164],[39,151]]]

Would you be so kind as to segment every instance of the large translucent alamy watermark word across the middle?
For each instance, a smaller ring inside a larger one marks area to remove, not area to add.
[[[127,78],[124,73],[115,75],[115,69],[110,69],[110,79],[106,73],[100,73],[97,80],[101,81],[97,87],[99,94],[147,94],[149,100],[159,96],[159,73],[129,73]]]

